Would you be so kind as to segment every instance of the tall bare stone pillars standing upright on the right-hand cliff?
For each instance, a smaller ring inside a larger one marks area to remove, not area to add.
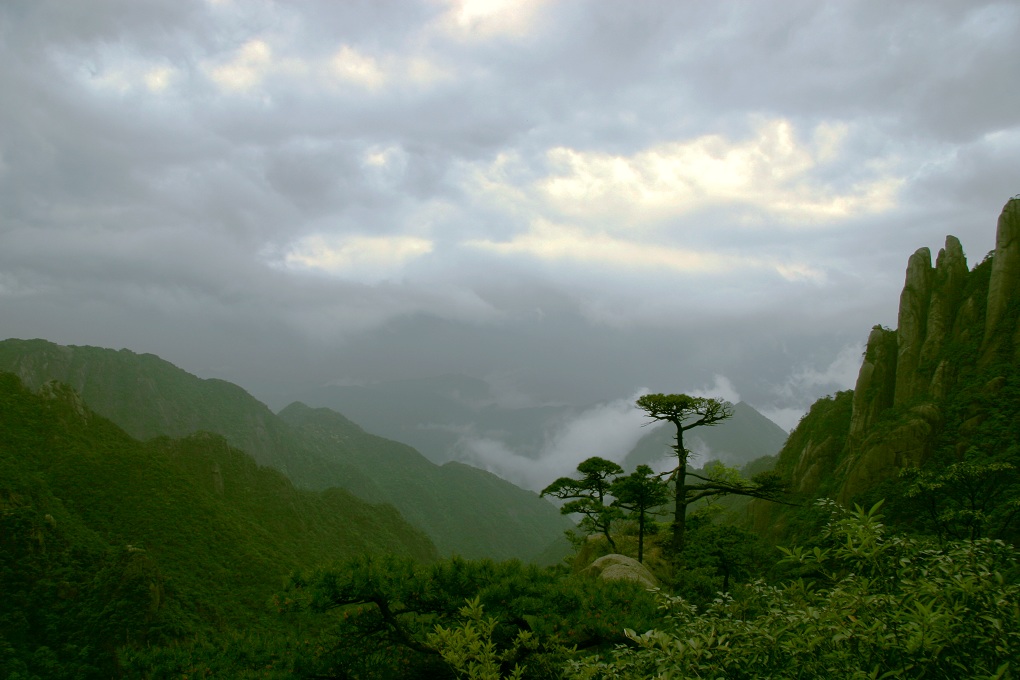
[[[970,359],[978,364],[1004,356],[1020,359],[1020,336],[1014,336],[1020,302],[1020,200],[1009,201],[999,218],[987,292],[978,290],[965,299],[970,273],[956,237],[947,237],[933,268],[926,248],[911,256],[899,327],[876,327],[868,337],[840,465],[840,499],[849,500],[904,467],[919,466],[931,454],[944,419],[938,405],[959,378],[960,355],[948,353],[950,347],[980,341],[979,356]],[[897,409],[895,424],[876,430],[889,409]]]

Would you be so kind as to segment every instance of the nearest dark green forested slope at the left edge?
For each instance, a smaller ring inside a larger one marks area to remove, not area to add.
[[[140,442],[0,372],[0,670],[111,677],[119,644],[250,624],[291,571],[366,554],[438,557],[391,506],[296,489],[218,435]]]

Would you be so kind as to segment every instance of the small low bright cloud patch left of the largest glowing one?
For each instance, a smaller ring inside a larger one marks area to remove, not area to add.
[[[430,241],[415,237],[314,233],[295,243],[278,264],[288,269],[381,280],[431,252]]]

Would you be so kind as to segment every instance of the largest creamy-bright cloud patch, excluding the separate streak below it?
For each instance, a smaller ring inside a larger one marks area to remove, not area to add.
[[[723,203],[810,221],[888,210],[902,184],[897,177],[876,171],[839,193],[812,176],[839,156],[847,135],[845,125],[826,123],[804,143],[792,122],[778,118],[760,123],[748,140],[706,135],[630,156],[557,147],[547,154],[554,174],[541,191],[564,214],[629,221]]]

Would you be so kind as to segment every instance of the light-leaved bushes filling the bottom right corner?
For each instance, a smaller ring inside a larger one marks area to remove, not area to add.
[[[876,504],[831,501],[825,547],[784,551],[804,576],[757,582],[704,612],[660,593],[663,626],[627,631],[631,646],[573,661],[568,677],[1003,678],[1020,656],[1014,547],[889,534]]]

